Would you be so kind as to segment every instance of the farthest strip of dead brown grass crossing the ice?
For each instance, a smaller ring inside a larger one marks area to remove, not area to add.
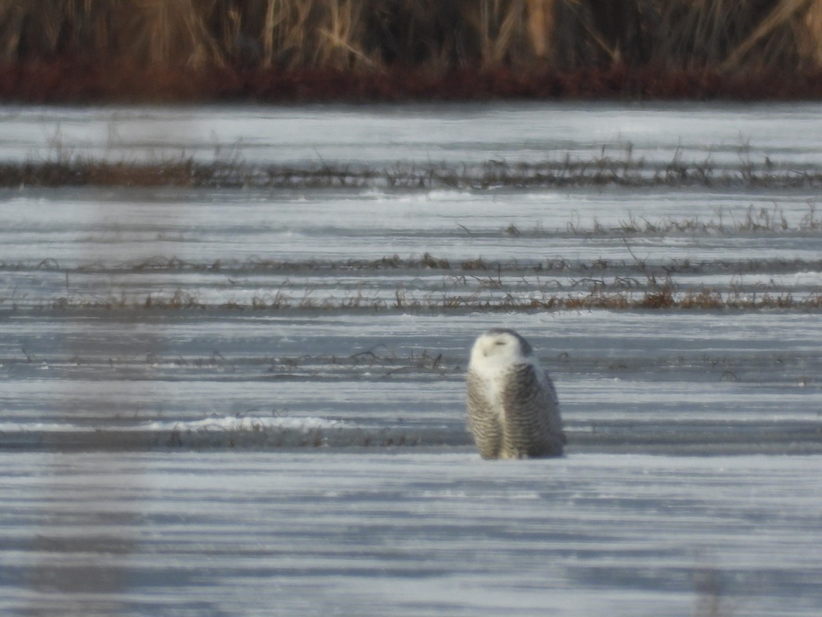
[[[646,162],[602,156],[570,156],[537,163],[487,161],[481,165],[397,163],[353,168],[321,163],[304,167],[203,163],[192,158],[159,162],[109,162],[79,155],[58,160],[0,164],[0,187],[183,187],[183,188],[383,188],[488,190],[498,188],[822,188],[817,165],[780,165],[742,160],[721,166],[702,162]]]

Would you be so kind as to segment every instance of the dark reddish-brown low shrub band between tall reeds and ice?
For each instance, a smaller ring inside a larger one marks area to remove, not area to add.
[[[0,101],[29,104],[113,102],[561,99],[795,100],[822,96],[822,70],[748,72],[661,67],[430,72],[392,67],[381,72],[334,69],[141,67],[127,62],[14,63],[0,66]]]

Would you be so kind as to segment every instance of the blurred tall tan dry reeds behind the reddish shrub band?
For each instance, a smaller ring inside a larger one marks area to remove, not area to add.
[[[822,0],[0,0],[0,66],[60,62],[224,75],[817,72]]]

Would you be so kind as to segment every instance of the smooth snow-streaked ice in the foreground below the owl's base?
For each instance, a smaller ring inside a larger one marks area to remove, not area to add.
[[[816,456],[0,458],[12,614],[810,616],[822,602]]]

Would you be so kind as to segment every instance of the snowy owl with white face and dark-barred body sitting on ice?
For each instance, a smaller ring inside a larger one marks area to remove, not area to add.
[[[483,458],[559,457],[566,443],[556,390],[522,336],[478,336],[465,378],[468,428]]]

